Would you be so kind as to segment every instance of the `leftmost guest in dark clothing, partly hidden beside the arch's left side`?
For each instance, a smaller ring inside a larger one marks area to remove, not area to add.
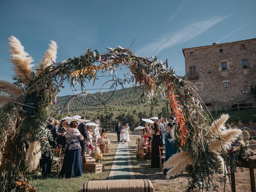
[[[56,129],[53,124],[54,124],[54,119],[50,118],[47,128],[51,131],[53,140],[52,141],[49,140],[49,144],[52,146],[52,148],[55,148],[55,145],[56,145],[55,140],[58,135],[56,133]],[[50,154],[46,156],[46,152],[45,152],[44,154],[42,154],[42,176],[44,178],[47,178],[50,176],[51,168],[52,168],[52,158]]]

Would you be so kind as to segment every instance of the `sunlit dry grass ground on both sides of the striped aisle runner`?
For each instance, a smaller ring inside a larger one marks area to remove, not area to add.
[[[41,179],[40,177],[34,178],[31,184],[36,187],[38,192],[76,192],[80,185],[84,181],[88,180],[106,180],[112,165],[114,154],[116,152],[117,144],[116,134],[108,134],[112,141],[112,150],[108,154],[103,154],[104,158],[104,171],[98,174],[83,173],[82,177],[78,178],[58,178],[56,172],[53,172],[52,178]],[[136,158],[136,138],[139,136],[130,136],[129,149],[132,164],[134,166],[134,172],[137,179],[149,179],[154,185],[155,191],[161,192],[182,192],[186,190],[189,182],[189,175],[184,173],[179,175],[175,179],[166,179],[158,168],[150,168],[151,161],[149,160],[137,160]],[[219,192],[224,190],[224,184],[218,182],[216,176],[216,182],[219,185]],[[244,168],[244,171],[238,169],[236,173],[236,191],[249,192],[250,191],[250,173],[248,169]],[[229,186],[229,180],[226,183],[225,192],[231,192]]]

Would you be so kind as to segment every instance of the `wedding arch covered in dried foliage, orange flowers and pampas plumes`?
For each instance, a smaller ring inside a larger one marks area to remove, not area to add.
[[[222,146],[230,145],[241,131],[222,130],[228,115],[212,123],[200,100],[194,96],[192,85],[177,76],[174,70],[168,70],[167,60],[162,63],[156,57],[143,58],[119,46],[108,48],[104,54],[88,49],[82,56],[56,63],[54,50],[57,46],[54,43],[50,44],[40,67],[33,71],[30,65],[32,58],[28,57],[15,37],[10,37],[12,62],[19,86],[0,82],[0,87],[11,95],[1,96],[4,102],[1,102],[0,137],[4,139],[0,142],[0,172],[4,191],[13,188],[34,190],[29,186],[28,173],[37,167],[41,153],[50,152],[48,138],[51,139],[51,134],[45,128],[45,120],[48,107],[56,98],[62,83],[67,81],[73,87],[79,83],[83,89],[85,83],[96,80],[98,72],[115,71],[122,67],[129,68],[132,75],[119,83],[129,81],[141,86],[142,98],[152,106],[156,104],[158,94],[170,100],[170,110],[178,122],[174,138],[182,152],[165,163],[165,167],[170,168],[167,176],[179,174],[187,168],[191,178],[188,190],[211,190],[214,187],[213,174],[224,172],[226,175],[226,168],[221,164],[223,159],[217,154],[220,152],[224,155]],[[20,51],[15,48],[17,45]],[[24,140],[30,143],[27,163],[22,146]],[[7,147],[11,149],[8,152]],[[17,185],[21,181],[22,185]]]

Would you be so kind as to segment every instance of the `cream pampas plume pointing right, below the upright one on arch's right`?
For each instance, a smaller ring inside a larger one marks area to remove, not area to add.
[[[231,144],[232,141],[236,140],[238,136],[242,134],[242,131],[237,128],[230,128],[220,135],[221,140],[222,140],[222,147],[223,148],[228,148]],[[218,151],[221,150],[221,144],[220,141],[214,141],[209,145],[209,150],[212,151]]]

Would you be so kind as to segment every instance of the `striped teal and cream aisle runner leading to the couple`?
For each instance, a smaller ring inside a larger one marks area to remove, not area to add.
[[[108,180],[135,179],[128,142],[119,143],[114,156],[113,164],[108,175]]]

